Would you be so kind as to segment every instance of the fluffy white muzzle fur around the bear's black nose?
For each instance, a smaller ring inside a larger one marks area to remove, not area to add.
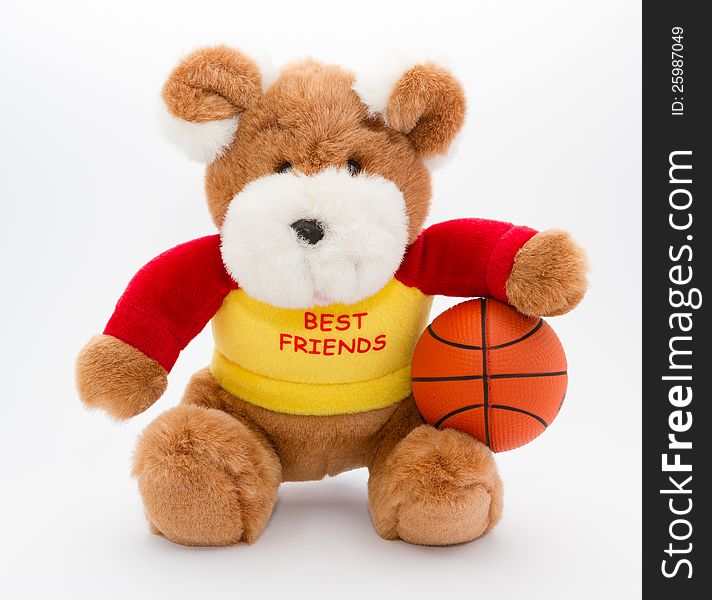
[[[291,224],[314,219],[314,245]],[[220,232],[230,275],[253,298],[282,308],[352,304],[378,292],[408,241],[405,200],[376,175],[345,169],[268,175],[235,196]]]

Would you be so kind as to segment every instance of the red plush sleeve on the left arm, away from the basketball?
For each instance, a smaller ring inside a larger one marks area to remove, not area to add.
[[[220,236],[164,252],[131,280],[104,329],[170,371],[237,285],[223,266]]]

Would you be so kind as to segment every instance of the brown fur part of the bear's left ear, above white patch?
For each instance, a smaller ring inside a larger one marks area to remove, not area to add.
[[[176,117],[203,123],[240,114],[257,102],[262,77],[254,61],[226,46],[202,48],[184,58],[163,86]]]

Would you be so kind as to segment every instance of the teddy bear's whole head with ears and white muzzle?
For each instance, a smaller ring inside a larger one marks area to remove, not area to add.
[[[223,261],[253,298],[283,308],[350,304],[380,290],[430,205],[424,159],[462,126],[462,87],[432,63],[381,82],[305,60],[266,85],[215,47],[163,87],[165,131],[207,163]]]

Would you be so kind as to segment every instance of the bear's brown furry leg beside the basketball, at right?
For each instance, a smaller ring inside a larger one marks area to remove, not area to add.
[[[419,415],[413,411],[410,400],[394,413],[370,465],[368,498],[376,531],[388,540],[428,546],[484,535],[502,514],[502,483],[492,452],[466,433],[414,423]]]

